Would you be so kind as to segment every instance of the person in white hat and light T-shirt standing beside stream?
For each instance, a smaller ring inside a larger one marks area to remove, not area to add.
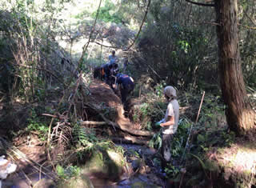
[[[178,128],[179,105],[176,90],[173,86],[166,86],[164,89],[166,100],[169,102],[166,110],[165,118],[156,125],[162,126],[162,157],[164,158],[163,166],[166,162],[170,162],[171,141],[174,133]]]

